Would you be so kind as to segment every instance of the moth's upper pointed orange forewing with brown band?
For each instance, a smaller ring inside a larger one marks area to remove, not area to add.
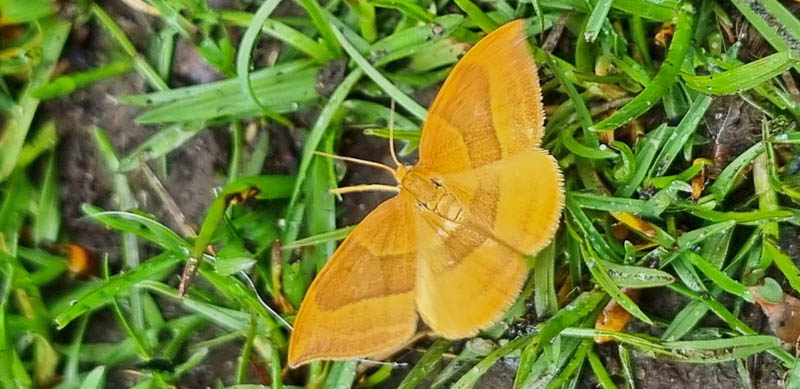
[[[429,109],[419,167],[463,171],[541,144],[544,109],[524,26],[503,25],[453,68]]]

